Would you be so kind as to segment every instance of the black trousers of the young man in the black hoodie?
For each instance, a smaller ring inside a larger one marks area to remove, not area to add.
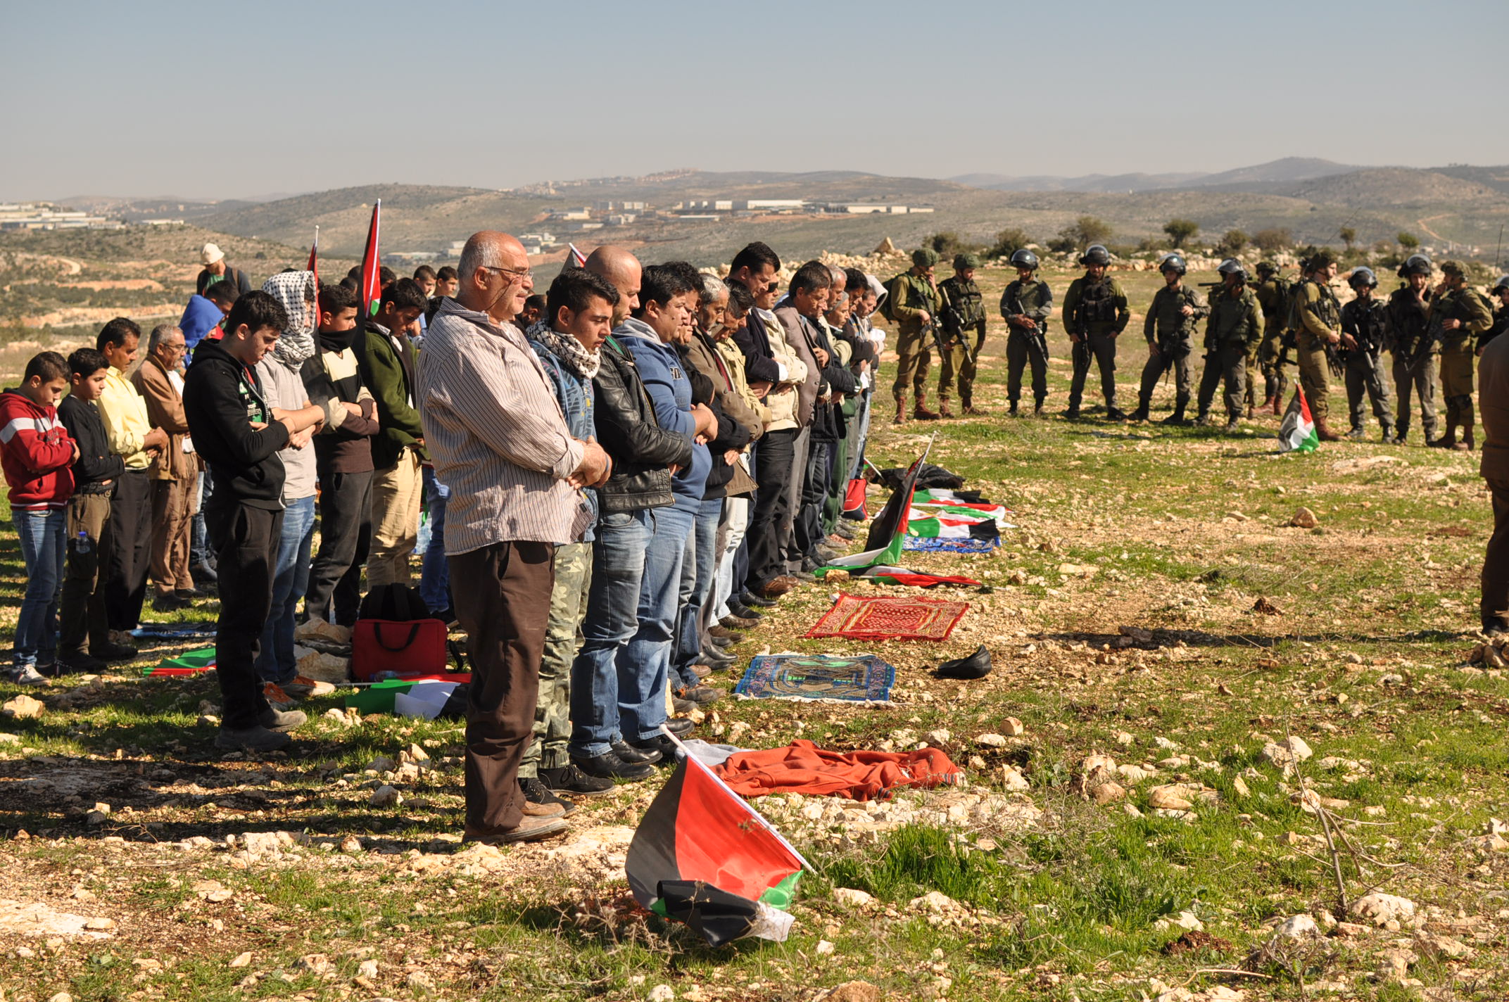
[[[257,676],[263,625],[273,607],[273,578],[282,542],[282,510],[252,509],[216,495],[205,512],[210,543],[219,555],[220,622],[214,637],[214,675],[220,682],[222,726],[244,730],[267,712]]]

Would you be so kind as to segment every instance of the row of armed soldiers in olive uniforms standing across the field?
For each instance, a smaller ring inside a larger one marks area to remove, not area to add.
[[[985,340],[985,309],[975,284],[975,255],[954,258],[954,276],[937,282],[939,257],[931,249],[911,255],[913,266],[889,285],[883,305],[887,318],[898,324],[899,364],[892,394],[895,421],[908,416],[907,392],[913,394],[910,416],[933,420],[954,416],[951,391],[955,380],[964,413],[982,413],[973,401],[976,361]],[[1355,299],[1340,303],[1331,281],[1337,261],[1326,252],[1301,263],[1301,279],[1289,282],[1272,263],[1257,266],[1257,281],[1242,263],[1227,258],[1216,269],[1219,279],[1209,284],[1209,296],[1185,284],[1188,266],[1179,254],[1159,263],[1163,288],[1153,296],[1142,333],[1148,344],[1142,367],[1138,407],[1130,415],[1117,407],[1117,340],[1130,321],[1126,293],[1109,273],[1111,254],[1094,244],[1079,258],[1085,275],[1076,278],[1064,296],[1064,326],[1073,344],[1073,379],[1065,416],[1077,420],[1085,380],[1091,364],[1099,368],[1106,415],[1114,421],[1147,421],[1153,391],[1169,371],[1174,376],[1174,410],[1165,424],[1191,424],[1195,335],[1204,321],[1204,371],[1197,397],[1195,424],[1210,424],[1210,406],[1218,389],[1227,410],[1227,430],[1234,430],[1245,410],[1278,413],[1290,386],[1287,370],[1298,367],[1299,385],[1310,404],[1316,433],[1322,441],[1364,438],[1366,404],[1382,427],[1384,442],[1402,444],[1409,433],[1411,398],[1418,400],[1420,423],[1428,445],[1438,448],[1473,447],[1473,358],[1495,333],[1509,326],[1509,276],[1498,279],[1492,294],[1497,311],[1482,293],[1467,282],[1465,269],[1456,261],[1441,264],[1441,279],[1432,284],[1431,258],[1411,255],[1400,267],[1402,284],[1387,299],[1378,296],[1378,276],[1369,267],[1354,269],[1346,282]],[[1000,315],[1008,326],[1007,394],[1011,415],[1019,413],[1022,376],[1031,367],[1034,413],[1043,412],[1047,397],[1047,323],[1053,293],[1037,278],[1038,258],[1022,249],[1011,255],[1017,278],[1000,296]],[[927,380],[931,349],[942,361],[939,412],[927,406]],[[1391,377],[1397,388],[1399,418],[1394,420],[1382,352],[1393,355]],[[1293,358],[1290,358],[1290,355]],[[1265,398],[1255,398],[1262,373]],[[1346,386],[1351,430],[1331,429],[1331,379]],[[1438,436],[1435,385],[1441,380],[1446,398],[1446,433]],[[1222,386],[1224,383],[1224,386]],[[1461,430],[1461,436],[1458,436]]]

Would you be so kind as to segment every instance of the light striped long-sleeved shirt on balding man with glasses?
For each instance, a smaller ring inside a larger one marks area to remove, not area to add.
[[[424,444],[451,490],[447,554],[581,539],[590,512],[566,478],[582,444],[518,327],[447,299],[424,335],[416,382]]]

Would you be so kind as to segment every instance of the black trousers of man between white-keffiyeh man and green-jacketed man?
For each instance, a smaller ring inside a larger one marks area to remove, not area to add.
[[[320,477],[320,552],[303,596],[306,617],[341,626],[356,622],[371,542],[373,471]]]

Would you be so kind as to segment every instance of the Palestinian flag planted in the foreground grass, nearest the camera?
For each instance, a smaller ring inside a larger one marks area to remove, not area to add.
[[[712,946],[742,936],[785,940],[803,869],[807,860],[691,755],[644,812],[625,863],[641,905]]]

